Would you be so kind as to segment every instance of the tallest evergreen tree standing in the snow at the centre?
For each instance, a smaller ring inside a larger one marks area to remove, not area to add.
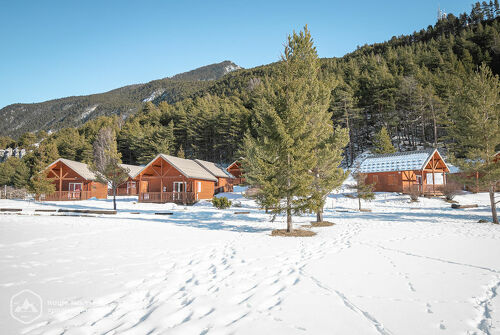
[[[288,37],[279,70],[276,79],[267,78],[255,89],[255,120],[244,138],[243,168],[247,181],[259,188],[257,201],[275,215],[285,213],[291,232],[292,215],[315,205],[309,197],[320,132],[313,128],[314,118],[328,103],[307,26]]]

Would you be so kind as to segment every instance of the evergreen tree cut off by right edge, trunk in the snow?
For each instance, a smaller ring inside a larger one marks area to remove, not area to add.
[[[500,80],[482,65],[467,80],[452,100],[454,117],[450,135],[456,164],[465,174],[479,175],[480,186],[490,195],[493,223],[498,222],[495,199],[500,182],[500,163],[495,159],[500,145]],[[472,182],[472,180],[469,180]]]

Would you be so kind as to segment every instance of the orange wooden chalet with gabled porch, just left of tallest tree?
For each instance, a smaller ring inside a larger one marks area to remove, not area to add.
[[[217,178],[191,159],[159,154],[137,175],[139,202],[193,204],[211,199]]]

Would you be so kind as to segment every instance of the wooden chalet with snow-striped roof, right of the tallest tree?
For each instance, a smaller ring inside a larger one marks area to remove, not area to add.
[[[437,149],[373,155],[360,166],[366,183],[375,192],[408,193],[413,188],[425,195],[442,194],[450,170]]]

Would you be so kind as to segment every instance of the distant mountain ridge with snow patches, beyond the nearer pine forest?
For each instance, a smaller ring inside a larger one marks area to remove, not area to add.
[[[161,99],[174,103],[209,86],[226,73],[240,69],[224,61],[171,78],[121,87],[106,93],[74,96],[33,104],[13,104],[0,109],[0,134],[18,137],[27,131],[75,127],[102,115],[127,117],[145,101]]]

